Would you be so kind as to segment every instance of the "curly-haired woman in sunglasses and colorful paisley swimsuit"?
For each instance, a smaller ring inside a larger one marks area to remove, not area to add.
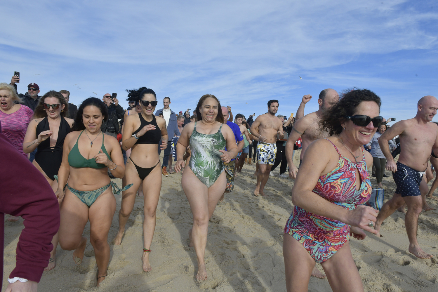
[[[315,262],[333,291],[364,291],[349,238],[377,233],[377,210],[363,206],[371,194],[373,158],[363,145],[381,124],[380,98],[369,90],[346,93],[322,122],[332,137],[311,143],[292,189],[283,255],[287,291],[306,291]],[[362,116],[357,116],[362,115]]]

